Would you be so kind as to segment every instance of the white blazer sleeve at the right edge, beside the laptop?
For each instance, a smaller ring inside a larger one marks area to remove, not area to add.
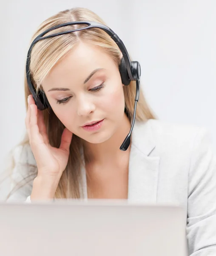
[[[216,256],[216,155],[199,128],[188,175],[187,239],[190,256]]]

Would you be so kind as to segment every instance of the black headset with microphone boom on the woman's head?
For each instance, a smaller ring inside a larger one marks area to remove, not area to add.
[[[79,29],[72,29],[72,30],[44,36],[51,30],[54,30],[54,29],[57,29],[60,27],[64,27],[64,26],[71,26],[71,25],[78,25],[78,24],[79,25],[83,24],[83,25],[87,25],[87,26],[79,28]],[[140,68],[140,64],[138,61],[130,60],[127,49],[125,48],[125,45],[122,43],[121,39],[108,26],[105,26],[102,23],[97,23],[94,21],[75,21],[75,22],[68,22],[68,23],[63,23],[63,24],[54,26],[52,28],[45,30],[40,35],[38,35],[37,38],[35,38],[34,41],[32,42],[32,44],[28,50],[28,54],[27,54],[26,78],[27,78],[27,82],[28,82],[28,88],[31,91],[32,96],[35,101],[35,104],[37,105],[37,108],[39,110],[51,108],[45,93],[42,90],[39,90],[38,93],[36,93],[36,89],[34,88],[33,84],[31,83],[29,66],[30,66],[30,61],[31,61],[32,47],[34,46],[34,44],[36,44],[40,40],[43,40],[46,38],[51,38],[51,37],[58,36],[58,35],[68,34],[68,33],[75,32],[75,31],[80,31],[83,29],[89,29],[89,28],[99,28],[99,29],[102,29],[103,31],[105,31],[116,42],[119,49],[121,50],[123,57],[119,64],[119,73],[121,75],[122,84],[128,85],[128,84],[130,84],[131,81],[136,81],[136,97],[135,97],[134,114],[133,114],[133,120],[131,123],[131,129],[129,131],[129,134],[123,141],[122,145],[120,146],[120,150],[126,151],[128,149],[128,146],[131,143],[131,133],[134,128],[134,122],[135,122],[135,116],[136,116],[136,104],[139,100],[139,86],[140,86],[139,79],[140,79],[140,75],[141,75],[141,68]]]

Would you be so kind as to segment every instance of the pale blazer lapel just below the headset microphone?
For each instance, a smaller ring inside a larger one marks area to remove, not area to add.
[[[156,202],[160,157],[150,156],[155,146],[151,121],[136,121],[131,135],[128,200]]]

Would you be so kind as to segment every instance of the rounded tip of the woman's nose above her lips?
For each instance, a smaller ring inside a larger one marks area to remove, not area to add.
[[[88,116],[90,113],[95,111],[95,105],[89,99],[89,97],[79,97],[77,98],[77,114],[78,116]]]

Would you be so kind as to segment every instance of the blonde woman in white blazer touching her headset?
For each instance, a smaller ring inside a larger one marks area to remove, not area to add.
[[[88,9],[65,10],[45,20],[32,41],[46,29],[83,20],[104,24]],[[31,79],[50,108],[37,108],[26,79],[27,136],[14,151],[18,185],[10,199],[179,203],[186,210],[190,255],[216,255],[216,158],[208,135],[202,128],[156,120],[140,91],[131,143],[119,150],[131,128],[136,94],[135,81],[123,83],[122,56],[97,28],[34,45]]]

